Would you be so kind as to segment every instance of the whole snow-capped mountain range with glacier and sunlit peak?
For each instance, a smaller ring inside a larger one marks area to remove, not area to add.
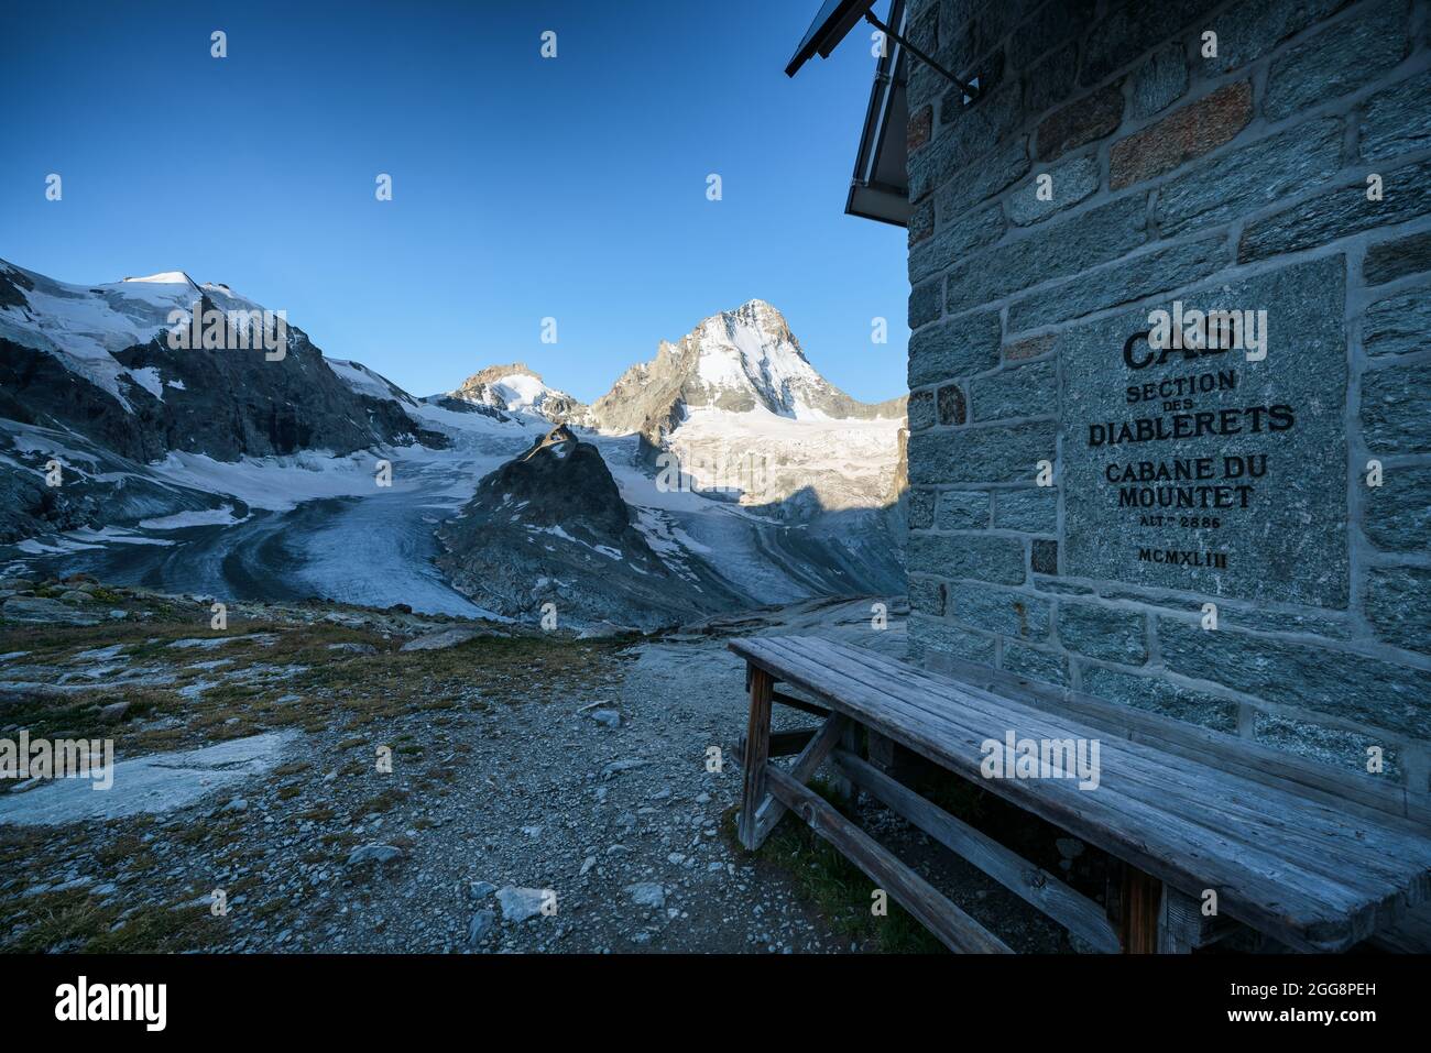
[[[519,362],[414,399],[359,362],[325,358],[293,325],[276,361],[172,346],[170,312],[199,300],[250,305],[179,270],[70,285],[0,260],[0,557],[122,548],[104,565],[147,579],[160,564],[133,549],[156,549],[189,588],[282,578],[283,589],[511,618],[551,597],[568,624],[641,627],[900,587],[903,401],[866,405],[829,385],[764,300],[661,343],[601,415]],[[366,506],[386,494],[372,485],[375,456],[401,459],[414,499]],[[53,459],[59,492],[43,475]],[[441,532],[439,567],[478,607],[406,544],[474,479]],[[353,501],[336,515],[306,504],[332,496]],[[301,502],[292,528],[322,534],[302,568],[285,555],[226,579],[210,542],[262,548],[229,509]],[[189,539],[147,534],[180,525],[236,534],[195,538],[182,555]],[[99,541],[112,529],[113,544]],[[376,555],[355,574],[353,551]]]

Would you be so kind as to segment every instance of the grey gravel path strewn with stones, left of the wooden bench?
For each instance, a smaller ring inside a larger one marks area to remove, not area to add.
[[[721,830],[740,773],[708,773],[705,748],[740,727],[741,685],[721,641],[648,644],[608,698],[534,700],[474,723],[458,785],[431,814],[441,826],[358,878],[363,894],[315,949],[461,950],[469,933],[504,951],[839,949],[788,880],[757,881]],[[592,715],[612,712],[617,727]]]

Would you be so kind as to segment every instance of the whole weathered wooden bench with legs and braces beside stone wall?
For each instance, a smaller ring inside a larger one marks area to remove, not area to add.
[[[1036,692],[1015,697],[1007,687],[1019,681],[997,671],[967,682],[816,637],[730,648],[747,661],[750,690],[741,843],[758,848],[794,811],[953,950],[1009,947],[810,790],[821,763],[1102,951],[1189,951],[1236,923],[1272,947],[1342,951],[1431,900],[1431,810],[1401,787],[1082,695],[1046,692],[1047,705]],[[771,734],[774,702],[823,723]],[[861,757],[861,727],[1122,861],[1119,917]],[[1072,777],[985,778],[983,744],[1010,731],[1096,740],[1096,788]],[[793,765],[771,763],[781,754],[797,754]],[[1215,917],[1201,910],[1206,890]]]

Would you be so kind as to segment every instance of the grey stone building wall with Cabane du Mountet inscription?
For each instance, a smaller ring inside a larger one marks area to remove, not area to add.
[[[910,70],[916,658],[1428,788],[1428,3],[909,26],[982,89]],[[1161,358],[1175,300],[1265,310],[1266,356]]]

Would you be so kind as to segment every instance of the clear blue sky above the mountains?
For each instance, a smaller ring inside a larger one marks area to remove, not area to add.
[[[13,263],[225,282],[418,395],[521,359],[592,399],[757,296],[856,398],[906,389],[904,232],[843,213],[869,30],[783,73],[816,0],[29,7],[0,13]]]

